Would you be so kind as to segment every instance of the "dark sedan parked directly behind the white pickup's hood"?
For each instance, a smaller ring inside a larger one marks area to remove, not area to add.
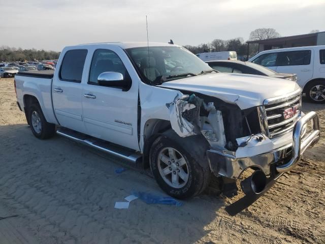
[[[296,74],[281,74],[276,73],[273,70],[265,68],[261,65],[256,65],[250,62],[242,62],[239,60],[220,60],[220,61],[208,61],[206,62],[212,69],[215,69],[222,73],[240,73],[251,75],[264,75],[275,78],[282,78],[287,80],[296,81]]]

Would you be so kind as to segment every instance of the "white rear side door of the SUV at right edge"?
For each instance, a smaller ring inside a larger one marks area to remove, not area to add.
[[[297,74],[297,83],[304,87],[313,76],[313,50],[281,52],[277,59],[278,73]]]

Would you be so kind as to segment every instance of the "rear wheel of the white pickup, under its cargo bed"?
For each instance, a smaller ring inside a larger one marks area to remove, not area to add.
[[[48,123],[39,104],[32,104],[28,109],[28,119],[32,134],[39,139],[47,139],[54,135],[55,125]]]

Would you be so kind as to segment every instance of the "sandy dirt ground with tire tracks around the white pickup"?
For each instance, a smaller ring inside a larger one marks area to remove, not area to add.
[[[229,199],[203,194],[181,207],[131,202],[132,191],[165,195],[150,173],[55,136],[35,138],[16,106],[13,79],[0,79],[0,243],[325,243],[323,138],[276,185],[235,217]],[[242,196],[242,195],[241,195]]]

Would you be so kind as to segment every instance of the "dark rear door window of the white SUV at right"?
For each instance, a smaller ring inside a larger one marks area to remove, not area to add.
[[[310,57],[310,50],[281,52],[277,59],[277,66],[309,65]]]

